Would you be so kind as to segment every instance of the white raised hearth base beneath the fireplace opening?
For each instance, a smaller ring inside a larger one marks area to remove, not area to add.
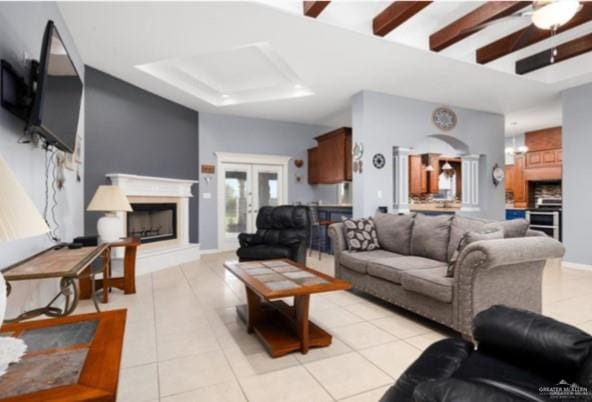
[[[136,276],[196,261],[199,260],[200,255],[201,252],[198,243],[162,250],[140,250],[136,257]],[[122,259],[114,258],[112,259],[112,264],[115,272],[123,272]]]

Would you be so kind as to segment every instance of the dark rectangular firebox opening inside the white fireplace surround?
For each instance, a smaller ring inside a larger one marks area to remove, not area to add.
[[[177,238],[176,203],[132,203],[127,214],[127,235],[142,243]]]

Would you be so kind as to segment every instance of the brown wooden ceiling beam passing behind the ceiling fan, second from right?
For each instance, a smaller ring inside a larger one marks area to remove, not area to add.
[[[584,3],[584,7],[567,24],[561,26],[557,32],[565,32],[568,29],[577,27],[592,21],[592,2]],[[526,37],[528,36],[528,37]],[[536,29],[532,24],[520,29],[508,36],[491,42],[490,44],[477,49],[477,63],[485,64],[520,49],[534,45],[542,40],[551,37],[550,30]]]

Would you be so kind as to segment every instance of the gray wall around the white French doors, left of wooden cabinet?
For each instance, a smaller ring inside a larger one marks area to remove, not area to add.
[[[302,181],[296,181],[296,168],[290,162],[288,171],[288,202],[321,200],[336,201],[335,186],[307,184],[306,150],[315,146],[314,137],[329,128],[272,120],[251,119],[211,113],[199,114],[199,160],[202,164],[216,164],[214,152],[286,155],[303,159],[298,169]],[[206,183],[200,178],[199,233],[202,250],[218,247],[217,181]],[[210,199],[203,194],[209,193]],[[332,198],[335,197],[335,198]]]

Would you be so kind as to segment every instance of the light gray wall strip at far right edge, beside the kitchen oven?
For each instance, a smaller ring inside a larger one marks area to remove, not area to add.
[[[562,94],[564,260],[592,264],[592,84]]]

